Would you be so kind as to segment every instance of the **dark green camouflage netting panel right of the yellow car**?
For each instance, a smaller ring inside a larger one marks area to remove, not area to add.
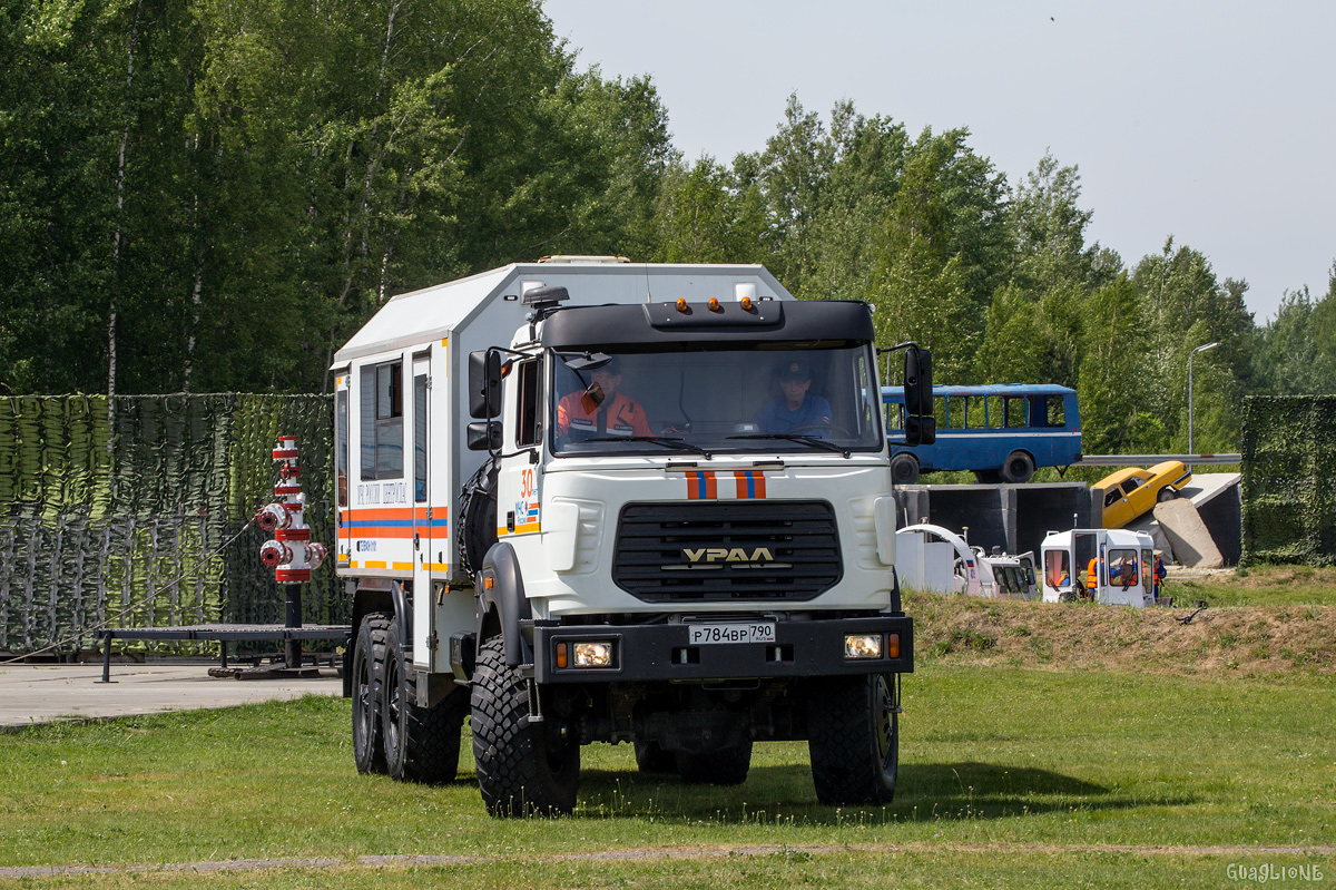
[[[1242,563],[1336,564],[1336,396],[1244,400]]]

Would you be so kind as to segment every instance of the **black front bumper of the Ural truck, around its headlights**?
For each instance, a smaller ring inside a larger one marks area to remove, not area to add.
[[[883,657],[846,659],[844,636],[848,633],[880,633]],[[886,639],[891,633],[899,635],[899,656],[894,659],[886,656]],[[557,667],[558,643],[570,645],[604,640],[615,647],[612,667]],[[691,645],[684,623],[561,627],[534,621],[533,625],[533,674],[538,683],[749,680],[912,671],[914,619],[907,615],[799,621],[776,619],[774,643],[709,645]]]

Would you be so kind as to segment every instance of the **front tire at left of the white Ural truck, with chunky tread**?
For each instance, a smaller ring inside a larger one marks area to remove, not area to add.
[[[580,740],[553,739],[550,716],[529,722],[529,690],[520,671],[505,663],[501,637],[478,649],[472,704],[473,759],[488,812],[570,812],[580,786]]]

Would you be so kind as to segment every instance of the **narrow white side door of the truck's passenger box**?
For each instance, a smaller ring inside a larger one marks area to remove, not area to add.
[[[432,509],[432,353],[413,357],[413,436],[411,436],[411,490],[413,500],[413,664],[430,670],[432,651],[428,636],[432,629],[432,576],[445,577],[444,567],[434,561]],[[441,517],[445,520],[445,517]]]

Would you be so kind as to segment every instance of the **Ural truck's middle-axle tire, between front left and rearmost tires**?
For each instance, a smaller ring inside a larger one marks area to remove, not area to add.
[[[385,682],[381,684],[381,732],[385,768],[391,778],[441,783],[460,768],[460,732],[469,711],[469,694],[453,690],[434,708],[413,703],[410,665],[399,636],[399,623],[386,637]]]

